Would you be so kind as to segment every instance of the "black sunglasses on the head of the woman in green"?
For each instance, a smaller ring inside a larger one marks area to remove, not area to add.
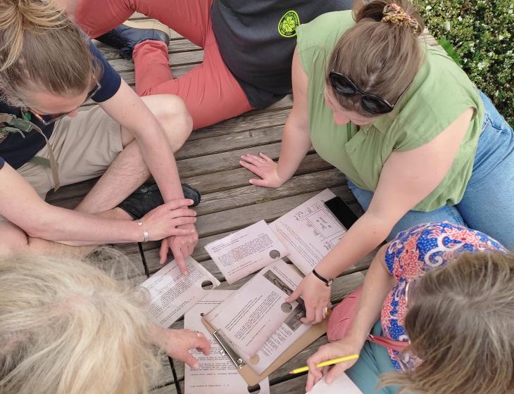
[[[365,91],[356,87],[352,80],[349,79],[349,77],[346,77],[339,72],[332,70],[328,75],[328,79],[330,80],[330,84],[332,84],[332,87],[337,92],[337,94],[341,94],[341,96],[351,97],[355,96],[356,94],[360,94],[361,106],[369,113],[381,115],[384,113],[390,113],[391,110],[394,110],[396,103],[391,104],[385,98],[366,93]]]

